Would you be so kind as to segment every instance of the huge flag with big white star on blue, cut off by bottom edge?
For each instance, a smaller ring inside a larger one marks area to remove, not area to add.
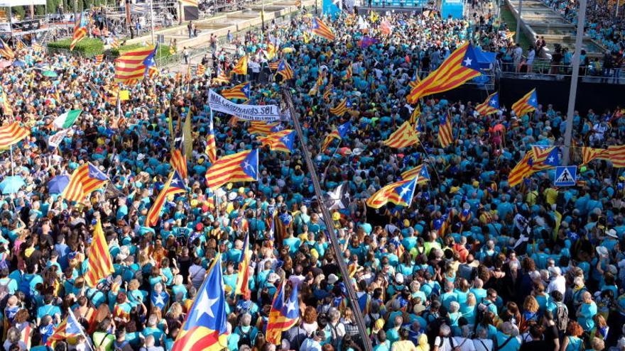
[[[220,351],[227,348],[228,330],[222,257],[214,258],[172,351]]]

